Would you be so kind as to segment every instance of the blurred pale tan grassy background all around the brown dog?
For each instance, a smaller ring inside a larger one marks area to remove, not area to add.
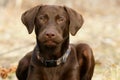
[[[71,43],[87,43],[96,66],[92,80],[120,80],[120,0],[0,0],[0,68],[17,66],[35,46],[21,14],[38,4],[65,5],[84,17],[84,25]],[[6,79],[17,80],[14,72]]]

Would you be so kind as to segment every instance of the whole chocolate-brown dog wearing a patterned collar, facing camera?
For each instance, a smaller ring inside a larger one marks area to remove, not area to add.
[[[66,6],[38,5],[23,13],[22,22],[31,34],[35,28],[36,46],[20,61],[18,80],[91,80],[95,60],[85,43],[70,44],[83,17]]]

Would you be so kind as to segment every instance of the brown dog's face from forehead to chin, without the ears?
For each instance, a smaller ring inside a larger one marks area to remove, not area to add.
[[[62,43],[69,33],[69,19],[63,7],[41,7],[35,25],[38,40],[46,46]]]

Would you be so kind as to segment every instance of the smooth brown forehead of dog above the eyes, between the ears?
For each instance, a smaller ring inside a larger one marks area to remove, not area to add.
[[[66,11],[62,6],[45,5],[41,6],[39,13],[41,14],[66,14]]]

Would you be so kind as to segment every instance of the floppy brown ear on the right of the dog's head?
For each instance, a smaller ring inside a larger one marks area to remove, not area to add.
[[[69,25],[69,30],[70,33],[74,36],[77,31],[81,28],[83,25],[83,17],[76,11],[74,11],[71,8],[64,7],[66,12],[68,13],[69,19],[70,19],[70,25]]]

